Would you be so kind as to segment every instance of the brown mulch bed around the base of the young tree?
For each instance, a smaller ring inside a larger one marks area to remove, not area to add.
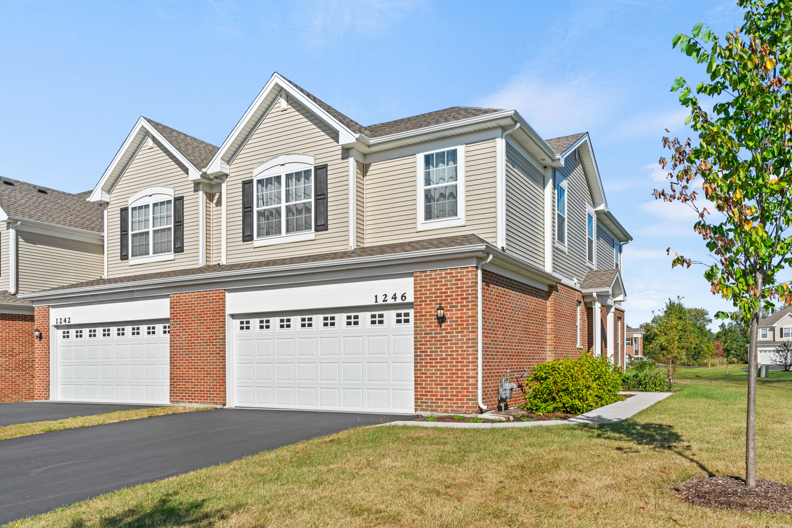
[[[781,482],[756,479],[756,488],[749,489],[742,477],[709,477],[688,481],[672,491],[696,506],[792,514],[792,486]]]

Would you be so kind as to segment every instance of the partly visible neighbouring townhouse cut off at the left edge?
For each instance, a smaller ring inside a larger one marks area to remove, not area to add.
[[[17,294],[102,275],[104,212],[88,195],[0,178],[0,402],[34,397],[33,306]]]

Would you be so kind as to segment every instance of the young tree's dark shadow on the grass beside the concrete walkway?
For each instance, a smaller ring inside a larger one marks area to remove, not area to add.
[[[698,465],[708,476],[714,477],[715,473],[710,471],[706,465],[691,457],[689,451],[691,446],[683,445],[684,439],[674,426],[668,424],[639,424],[631,420],[625,420],[618,424],[600,424],[588,427],[588,431],[595,438],[615,441],[628,441],[636,446],[647,446],[655,450],[670,450],[680,457]],[[636,449],[616,447],[616,450],[626,453],[636,453]]]

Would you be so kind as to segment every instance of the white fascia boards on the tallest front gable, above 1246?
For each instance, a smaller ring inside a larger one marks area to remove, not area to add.
[[[248,135],[252,134],[255,127],[249,127],[251,121],[256,123],[261,119],[261,116],[256,114],[261,111],[262,107],[269,108],[280,93],[285,92],[299,101],[307,110],[317,116],[320,120],[326,123],[327,126],[333,128],[338,132],[338,142],[341,144],[352,143],[356,141],[356,134],[348,129],[345,124],[331,116],[328,112],[321,108],[318,104],[311,101],[299,89],[296,89],[291,82],[282,78],[279,74],[272,74],[269,81],[258,93],[256,99],[250,104],[242,119],[238,121],[234,130],[228,135],[220,150],[217,151],[215,157],[211,159],[206,172],[210,176],[219,176],[228,174],[228,164],[234,154],[242,146]],[[246,130],[247,129],[247,130]],[[223,163],[224,162],[224,163]]]

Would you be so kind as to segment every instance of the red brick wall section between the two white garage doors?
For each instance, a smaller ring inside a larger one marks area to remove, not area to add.
[[[170,403],[226,404],[226,291],[170,295]]]

